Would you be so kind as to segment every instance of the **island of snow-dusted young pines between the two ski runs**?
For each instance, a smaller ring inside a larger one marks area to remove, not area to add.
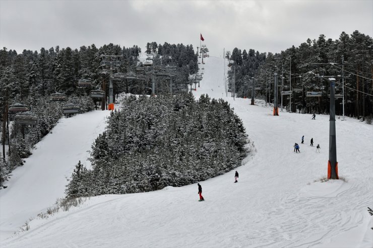
[[[183,186],[228,172],[247,154],[247,135],[227,102],[190,94],[131,96],[92,145],[92,170],[79,163],[67,196]]]

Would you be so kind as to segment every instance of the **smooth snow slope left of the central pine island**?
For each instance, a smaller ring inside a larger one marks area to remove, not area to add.
[[[5,183],[8,187],[0,190],[0,240],[64,197],[67,179],[77,162],[90,166],[87,151],[104,131],[108,114],[109,111],[94,111],[62,118],[35,145],[24,166],[12,172],[10,181]]]

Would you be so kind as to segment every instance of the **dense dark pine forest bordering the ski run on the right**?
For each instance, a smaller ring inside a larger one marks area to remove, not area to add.
[[[253,49],[248,52],[234,48],[231,54],[227,54],[232,60],[231,65],[235,67],[235,92],[238,97],[251,97],[251,91],[244,86],[245,82],[252,85],[251,77],[255,77],[255,85],[261,87],[259,92],[264,99],[265,88],[271,85],[271,94],[267,91],[267,101],[274,99],[273,73],[278,73],[278,82],[282,79],[289,91],[289,74],[291,69],[291,88],[303,89],[303,93],[292,95],[291,111],[303,113],[328,113],[329,112],[329,91],[330,86],[326,79],[315,77],[313,73],[321,75],[342,75],[342,57],[344,63],[345,84],[345,114],[351,117],[362,117],[373,113],[373,40],[368,35],[353,32],[351,35],[342,32],[338,40],[327,39],[320,35],[316,40],[307,39],[298,47],[281,51],[281,53],[260,53]],[[291,59],[291,68],[290,68]],[[339,63],[339,65],[319,66],[317,69],[314,63]],[[231,67],[233,68],[233,67]],[[233,69],[229,76],[232,77]],[[282,76],[284,78],[282,78]],[[337,78],[336,94],[342,94],[342,79]],[[323,96],[305,97],[305,92],[322,91]],[[280,90],[279,90],[280,92]],[[370,94],[366,95],[364,93]],[[258,94],[258,92],[257,92]],[[280,93],[279,93],[279,98]],[[283,105],[289,111],[289,99],[283,97]],[[336,114],[342,114],[342,99],[336,99]]]

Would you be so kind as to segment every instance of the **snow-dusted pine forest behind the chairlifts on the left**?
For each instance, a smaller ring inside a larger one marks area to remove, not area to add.
[[[177,54],[180,54],[185,48],[180,45],[172,45],[172,47],[176,47]],[[190,48],[190,46],[188,47]],[[118,72],[126,73],[136,70],[140,52],[141,49],[135,45],[131,48],[121,48],[112,43],[100,48],[96,48],[94,44],[88,47],[82,46],[79,50],[73,50],[70,47],[60,49],[59,46],[56,46],[48,50],[41,48],[40,52],[24,50],[20,54],[15,50],[8,51],[5,47],[0,50],[0,119],[6,120],[4,116],[7,106],[14,103],[28,105],[39,119],[38,125],[24,128],[25,138],[19,132],[20,127],[16,125],[11,128],[14,130],[11,137],[5,130],[5,138],[1,137],[1,139],[10,143],[11,154],[9,154],[10,160],[8,161],[3,154],[3,161],[0,164],[0,186],[7,179],[7,175],[17,165],[22,164],[22,160],[18,158],[24,158],[31,154],[32,146],[47,134],[61,117],[62,104],[50,103],[50,94],[56,91],[66,94],[68,96],[67,102],[79,104],[81,112],[93,110],[93,101],[88,97],[89,91],[100,88],[103,80],[108,81],[108,75],[100,73],[100,70],[103,69],[100,55],[122,55],[122,64],[118,68]],[[194,60],[192,57],[188,57],[188,59]],[[190,71],[188,59],[177,64],[180,76],[175,77],[175,81],[188,80]],[[172,60],[170,61],[172,62]],[[194,70],[195,68],[192,68],[191,71]],[[77,82],[82,78],[90,79],[93,87],[78,88]],[[148,84],[148,89],[151,89],[150,80]],[[131,91],[136,94],[149,93],[141,91],[142,89],[138,87],[138,84],[135,84],[135,81],[129,81],[126,86],[115,84],[113,90],[114,94],[123,91]],[[105,90],[108,95],[108,87]],[[12,121],[13,118],[13,115],[9,115],[8,120]],[[0,125],[0,131],[3,133],[3,125]]]

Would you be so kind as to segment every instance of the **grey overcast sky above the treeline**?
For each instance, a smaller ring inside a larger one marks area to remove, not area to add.
[[[0,47],[22,53],[95,44],[147,42],[200,46],[210,56],[255,49],[280,52],[320,34],[338,39],[359,30],[372,37],[373,0],[298,1],[34,1],[0,0]]]

